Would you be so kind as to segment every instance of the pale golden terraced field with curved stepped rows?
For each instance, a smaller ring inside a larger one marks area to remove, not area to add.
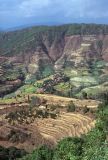
[[[95,126],[95,120],[81,114],[64,113],[57,119],[38,119],[33,123],[38,125],[40,134],[56,144],[64,137],[80,137]]]

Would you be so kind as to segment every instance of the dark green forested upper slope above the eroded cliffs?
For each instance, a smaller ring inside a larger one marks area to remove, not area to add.
[[[17,28],[16,28],[17,29]],[[107,34],[108,25],[68,24],[62,26],[36,26],[11,32],[0,36],[0,55],[15,55],[19,52],[36,48],[47,37],[49,43],[56,38],[69,35]]]

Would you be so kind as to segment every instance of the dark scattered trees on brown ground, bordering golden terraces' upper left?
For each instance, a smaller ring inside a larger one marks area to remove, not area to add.
[[[57,113],[50,112],[48,109],[29,109],[29,110],[20,110],[16,112],[10,112],[6,119],[11,125],[18,124],[30,124],[33,123],[36,118],[48,118],[51,117],[55,119],[58,116]]]

